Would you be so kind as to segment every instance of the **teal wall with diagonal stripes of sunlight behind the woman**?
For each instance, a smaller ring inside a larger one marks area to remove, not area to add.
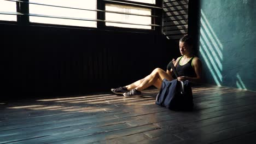
[[[200,0],[206,83],[256,91],[256,1]]]

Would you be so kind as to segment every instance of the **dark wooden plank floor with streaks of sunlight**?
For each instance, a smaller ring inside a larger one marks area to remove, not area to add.
[[[155,105],[112,94],[0,102],[0,143],[244,143],[256,142],[256,93],[197,86],[195,109]]]

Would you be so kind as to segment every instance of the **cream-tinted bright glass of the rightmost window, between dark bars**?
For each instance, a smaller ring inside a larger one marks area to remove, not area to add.
[[[130,6],[125,6],[125,5],[117,5],[117,4],[106,4],[106,10],[118,11],[118,12],[123,12],[123,13],[151,15],[151,9],[130,7]],[[106,22],[106,26],[143,28],[143,29],[151,29],[152,28],[151,26],[143,26],[143,25],[152,24],[151,17],[149,17],[149,16],[106,13],[106,20],[142,24],[142,25],[130,25],[130,24],[123,24],[123,23]]]

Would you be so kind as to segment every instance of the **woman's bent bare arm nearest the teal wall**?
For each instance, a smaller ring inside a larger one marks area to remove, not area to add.
[[[196,77],[181,76],[181,77],[177,78],[178,81],[189,80],[192,83],[201,83],[202,82],[202,62],[201,62],[201,60],[199,58],[195,57],[193,65],[194,65]]]

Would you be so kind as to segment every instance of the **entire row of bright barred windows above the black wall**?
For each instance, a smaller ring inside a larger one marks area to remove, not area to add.
[[[120,27],[144,32],[160,29],[162,21],[162,8],[155,0],[0,0],[0,5],[0,21],[18,25]]]

